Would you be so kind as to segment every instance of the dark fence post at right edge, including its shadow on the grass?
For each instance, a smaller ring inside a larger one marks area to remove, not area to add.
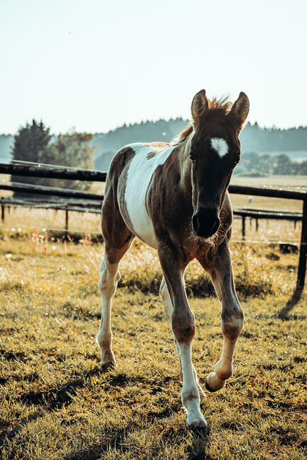
[[[298,270],[296,278],[296,289],[293,296],[287,302],[281,311],[279,311],[279,318],[286,318],[289,311],[293,309],[294,305],[301,299],[303,287],[305,285],[306,277],[306,263],[307,263],[307,200],[303,200],[303,216],[301,219],[301,244],[299,247]]]

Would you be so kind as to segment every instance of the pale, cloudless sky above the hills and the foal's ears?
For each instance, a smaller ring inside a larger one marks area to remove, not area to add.
[[[306,0],[0,0],[0,133],[189,118],[202,88],[307,125],[306,17]]]

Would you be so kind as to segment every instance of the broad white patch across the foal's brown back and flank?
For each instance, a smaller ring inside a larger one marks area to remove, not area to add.
[[[135,156],[130,162],[125,185],[126,209],[137,236],[156,248],[155,232],[146,209],[146,192],[155,169],[165,163],[175,146],[158,151],[152,158],[147,158],[154,150],[152,146],[141,143],[128,146],[135,151]]]

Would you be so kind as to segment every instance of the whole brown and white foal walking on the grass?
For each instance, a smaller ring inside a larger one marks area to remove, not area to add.
[[[191,361],[195,317],[184,288],[184,270],[196,258],[211,275],[221,301],[223,350],[206,389],[221,389],[233,374],[235,342],[244,314],[233,284],[229,240],[233,219],[228,184],[240,160],[239,134],[249,111],[240,93],[233,105],[194,96],[192,125],[167,144],[130,144],[113,157],[102,206],[105,255],[99,288],[102,316],[97,342],[101,364],[115,363],[111,343],[111,299],[118,265],[135,236],[157,248],[163,271],[160,294],[182,365],[182,403],[190,426],[205,427],[204,397]]]

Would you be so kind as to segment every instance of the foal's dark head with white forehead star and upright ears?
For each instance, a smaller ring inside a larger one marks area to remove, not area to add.
[[[208,100],[205,90],[194,96],[191,105],[192,226],[194,234],[203,238],[215,234],[220,226],[220,209],[233,168],[240,161],[239,134],[250,102],[240,93],[230,107],[230,103]]]

